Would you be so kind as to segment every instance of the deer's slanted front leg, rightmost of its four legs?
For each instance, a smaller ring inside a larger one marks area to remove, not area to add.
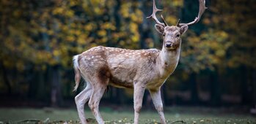
[[[167,121],[164,118],[164,109],[163,109],[163,103],[161,99],[161,90],[158,88],[157,90],[150,90],[150,95],[153,100],[153,103],[156,107],[156,110],[158,111],[158,114],[161,118],[161,123],[167,124]]]

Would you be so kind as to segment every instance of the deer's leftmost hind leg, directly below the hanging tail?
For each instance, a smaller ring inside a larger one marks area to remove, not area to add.
[[[89,101],[89,97],[91,96],[91,94],[92,94],[92,85],[89,82],[87,82],[87,87],[75,97],[78,116],[82,124],[87,124],[87,120],[84,115],[84,104],[86,104],[87,101]]]

